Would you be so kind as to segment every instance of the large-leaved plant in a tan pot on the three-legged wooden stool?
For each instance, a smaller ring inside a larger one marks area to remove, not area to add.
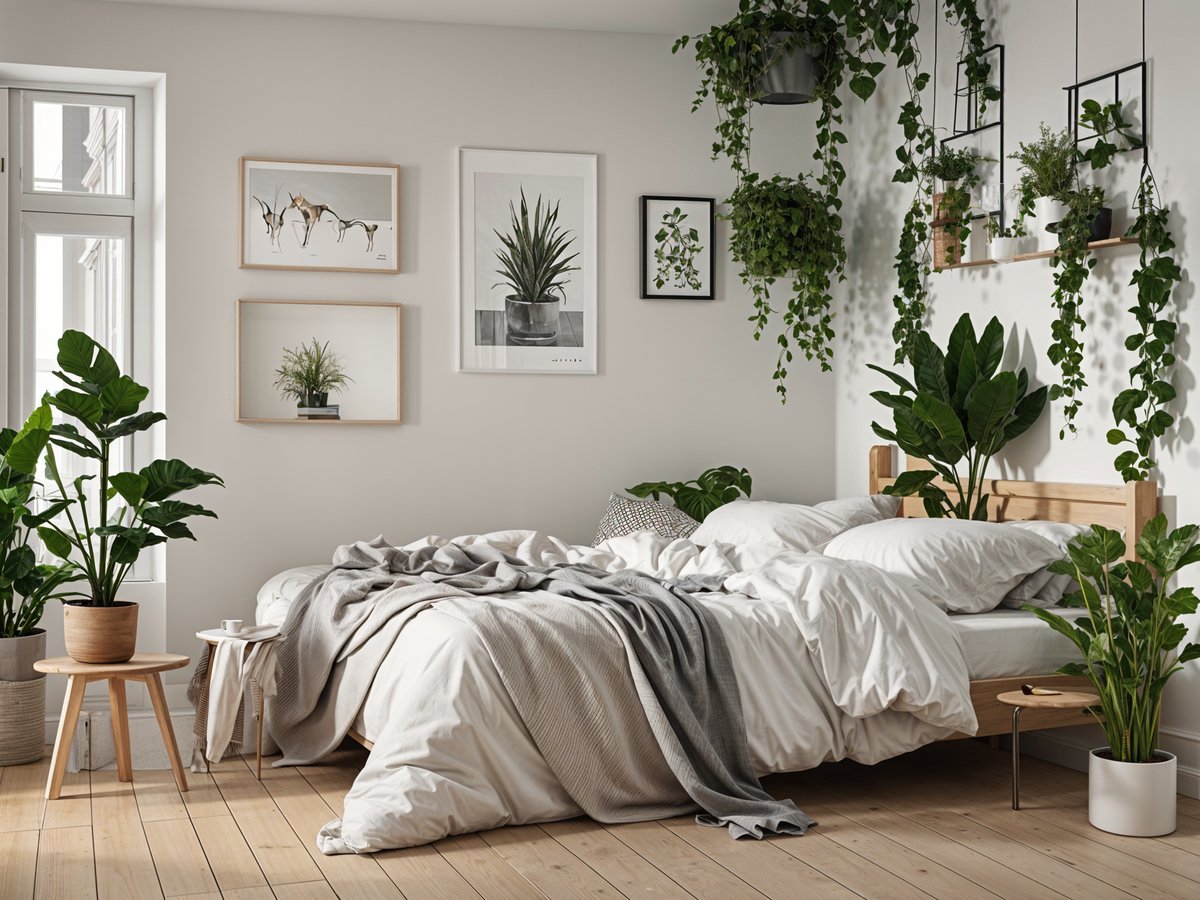
[[[211,472],[181,460],[155,460],[138,472],[113,472],[113,445],[148,431],[166,415],[138,412],[149,390],[121,374],[112,354],[82,331],[59,340],[59,371],[67,386],[43,403],[71,424],[50,427],[47,469],[58,487],[55,516],[37,527],[47,551],[70,560],[86,582],[80,600],[62,606],[67,653],[79,662],[124,662],[137,647],[138,606],[120,600],[121,586],[138,557],[168,540],[196,540],[193,516],[216,514],[175,497],[202,485],[223,485]],[[55,449],[78,457],[96,474],[64,484]],[[94,490],[89,492],[89,482]]]

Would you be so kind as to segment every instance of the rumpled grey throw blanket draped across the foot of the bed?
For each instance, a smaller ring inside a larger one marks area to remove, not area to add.
[[[650,752],[647,748],[631,752],[612,746],[612,742],[592,744],[588,749],[593,754],[614,755],[608,770],[619,768],[617,761],[634,758],[647,767],[640,776],[649,785],[655,780],[655,766],[661,769],[665,761],[686,796],[704,811],[698,822],[727,826],[734,836],[803,834],[814,821],[791,800],[773,799],[754,774],[725,637],[712,613],[688,594],[689,588],[708,587],[660,582],[632,571],[527,565],[488,545],[404,551],[377,539],[341,547],[334,569],[316,578],[288,613],[288,636],[278,650],[272,736],[284,752],[284,764],[311,762],[331,750],[361,707],[371,677],[404,622],[430,604],[451,596],[545,590],[572,601],[558,607],[556,617],[576,606],[576,616],[593,622],[589,617],[599,611],[625,646],[626,673],[632,677],[659,752],[653,754],[649,739]],[[592,721],[595,727],[588,704],[581,701],[572,704],[576,708],[559,712],[528,701],[544,694],[539,680],[562,674],[529,662],[530,653],[545,656],[532,642],[545,641],[547,635],[553,640],[551,625],[523,616],[491,614],[492,608],[482,605],[470,624],[497,664],[539,750],[586,812],[607,821],[629,818],[628,809],[617,809],[628,806],[628,791],[618,799],[611,788],[594,784],[601,780],[595,770],[588,779],[570,762],[581,752],[581,736],[564,721],[576,727]],[[582,642],[559,658],[570,665],[572,655],[586,658],[589,653],[598,650]],[[347,667],[336,664],[352,655],[356,674],[343,678]],[[601,660],[583,660],[581,667],[590,674],[605,671]],[[629,682],[613,683],[604,690],[610,695],[629,692],[630,686]],[[626,736],[638,733],[637,726],[623,725]],[[638,773],[632,778],[636,784]],[[641,798],[646,802],[640,804],[642,815],[653,809],[666,815],[677,799],[674,793],[668,786],[658,790],[654,798]]]

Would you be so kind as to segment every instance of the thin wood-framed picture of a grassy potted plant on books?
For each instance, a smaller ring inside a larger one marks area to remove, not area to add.
[[[238,301],[238,421],[398,425],[401,305]]]

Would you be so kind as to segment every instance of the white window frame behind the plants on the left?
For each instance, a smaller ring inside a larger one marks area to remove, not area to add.
[[[92,194],[83,192],[34,191],[32,164],[23,164],[30,158],[32,137],[25,122],[32,114],[34,100],[49,102],[79,102],[126,109],[126,128],[132,134],[127,148],[124,196]],[[128,280],[127,314],[131,328],[127,334],[126,359],[122,371],[150,389],[145,409],[163,408],[163,389],[156,368],[154,341],[162,336],[161,323],[156,322],[155,292],[161,274],[155,271],[155,91],[151,88],[116,88],[88,84],[40,84],[29,82],[0,82],[0,158],[6,161],[6,174],[0,175],[0,283],[7,281],[10,298],[7,316],[0,316],[0,372],[7,374],[7,390],[0,391],[0,414],[10,426],[19,425],[32,412],[37,398],[32,396],[32,377],[36,372],[36,348],[34,346],[34,292],[23,283],[23,272],[29,257],[23,248],[31,223],[54,221],[47,216],[61,217],[70,222],[76,217],[92,220],[83,233],[107,234],[114,218],[124,218],[127,232]],[[20,148],[13,158],[10,150]],[[5,214],[7,210],[7,215]],[[5,233],[7,232],[7,234]],[[64,233],[70,233],[67,228]],[[31,252],[31,251],[29,251]],[[8,263],[17,263],[10,265]],[[160,260],[161,263],[161,260]],[[29,269],[32,271],[32,269]],[[157,280],[157,281],[156,281]],[[161,349],[160,354],[161,356]],[[134,468],[148,464],[163,448],[163,426],[151,432],[136,434],[132,439],[131,458]],[[130,581],[162,581],[164,571],[162,547],[155,547],[143,557],[130,574]]]

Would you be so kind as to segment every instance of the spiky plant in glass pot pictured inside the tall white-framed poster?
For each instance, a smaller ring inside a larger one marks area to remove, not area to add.
[[[578,253],[568,256],[575,238],[558,226],[558,205],[542,205],[541,194],[534,205],[533,217],[521,188],[521,211],[509,202],[511,232],[496,236],[504,245],[496,251],[500,262],[497,272],[512,293],[504,298],[504,320],[508,336],[522,344],[545,344],[558,337],[558,317],[566,294],[563,288],[570,281],[568,272],[580,268],[571,265]],[[558,296],[554,296],[554,293]]]

